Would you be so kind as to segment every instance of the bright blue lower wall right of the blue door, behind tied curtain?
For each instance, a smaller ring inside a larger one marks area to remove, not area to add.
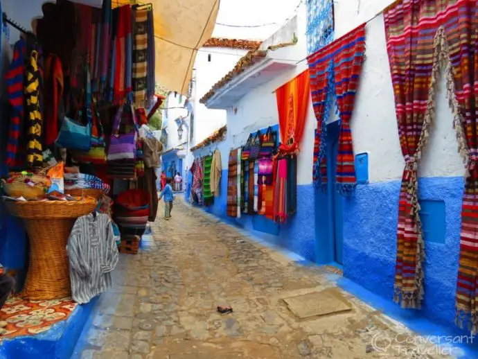
[[[459,262],[462,177],[418,181],[420,200],[445,202],[445,243],[425,237],[425,298],[420,312],[434,322],[454,326],[454,295]],[[396,261],[400,181],[357,186],[344,200],[344,275],[390,301]]]

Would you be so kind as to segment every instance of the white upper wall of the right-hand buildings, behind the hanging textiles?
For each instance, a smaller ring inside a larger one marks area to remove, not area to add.
[[[339,1],[335,3],[336,37],[345,35],[353,28],[370,20],[366,26],[366,60],[357,91],[355,109],[351,121],[355,153],[369,152],[370,182],[400,180],[405,161],[402,157],[396,123],[393,87],[385,42],[382,15],[375,17],[393,0]],[[301,60],[306,57],[306,8],[301,6],[297,12],[298,44],[279,51],[272,56],[281,59]],[[278,123],[276,97],[272,93],[294,76],[307,68],[301,62],[296,69],[283,73],[249,92],[238,103],[227,110],[227,146],[222,152],[222,166],[227,166],[230,148],[241,146],[247,141],[249,133]],[[452,126],[452,112],[445,99],[444,79],[439,83],[436,94],[436,119],[431,128],[430,140],[423,151],[419,167],[421,177],[462,176],[464,168],[457,152],[457,140]],[[336,118],[330,119],[335,121]],[[312,109],[308,112],[306,130],[299,156],[299,184],[312,182],[312,161],[314,130],[317,121]],[[222,145],[221,145],[222,146]]]

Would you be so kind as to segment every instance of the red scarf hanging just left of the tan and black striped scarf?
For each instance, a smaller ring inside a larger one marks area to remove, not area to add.
[[[116,23],[116,44],[114,47],[114,103],[121,104],[132,91],[132,24],[131,6],[125,5],[118,9]]]

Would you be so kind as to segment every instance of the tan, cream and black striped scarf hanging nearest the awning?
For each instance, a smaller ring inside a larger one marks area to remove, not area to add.
[[[134,11],[133,98],[136,107],[145,107],[148,76],[148,10]]]

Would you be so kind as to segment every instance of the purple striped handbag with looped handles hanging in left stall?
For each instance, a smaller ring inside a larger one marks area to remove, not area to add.
[[[136,141],[138,140],[138,125],[136,123],[136,115],[134,108],[130,105],[131,116],[134,123],[134,131],[127,134],[119,134],[119,129],[125,107],[124,105],[118,108],[116,117],[114,119],[112,137],[109,141],[108,161],[118,161],[120,159],[136,159]]]

